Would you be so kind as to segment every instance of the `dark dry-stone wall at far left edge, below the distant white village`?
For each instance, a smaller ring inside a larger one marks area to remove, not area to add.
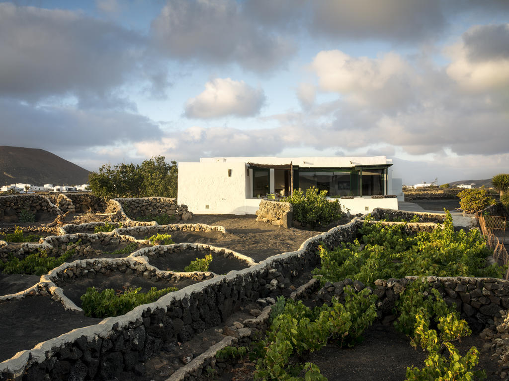
[[[62,211],[40,195],[0,196],[0,221],[17,223],[21,211],[27,210],[35,215],[36,221],[52,219]]]

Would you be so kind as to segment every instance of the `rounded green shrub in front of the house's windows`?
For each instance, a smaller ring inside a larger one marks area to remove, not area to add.
[[[316,186],[306,190],[304,196],[300,190],[294,190],[292,196],[282,199],[293,205],[293,217],[301,224],[311,228],[326,226],[343,217],[340,200],[327,200],[327,190],[319,192]]]

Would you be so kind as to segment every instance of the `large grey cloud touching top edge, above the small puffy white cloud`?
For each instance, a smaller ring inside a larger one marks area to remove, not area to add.
[[[264,30],[234,0],[168,0],[152,32],[170,57],[237,62],[252,71],[274,69],[294,52],[290,40]]]

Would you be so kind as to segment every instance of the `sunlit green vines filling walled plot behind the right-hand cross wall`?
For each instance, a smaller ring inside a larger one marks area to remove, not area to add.
[[[504,271],[498,265],[486,267],[489,250],[482,235],[477,230],[455,232],[449,212],[443,229],[409,236],[405,227],[365,221],[359,238],[364,246],[359,240],[333,250],[320,246],[321,268],[313,272],[331,282],[352,278],[373,284],[407,275],[501,277]]]

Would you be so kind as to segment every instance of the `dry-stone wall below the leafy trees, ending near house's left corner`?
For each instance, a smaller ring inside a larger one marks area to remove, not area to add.
[[[186,205],[177,205],[177,199],[167,197],[111,199],[106,207],[106,213],[119,213],[128,220],[160,214],[174,216],[175,222],[192,218],[192,213],[187,210]]]

